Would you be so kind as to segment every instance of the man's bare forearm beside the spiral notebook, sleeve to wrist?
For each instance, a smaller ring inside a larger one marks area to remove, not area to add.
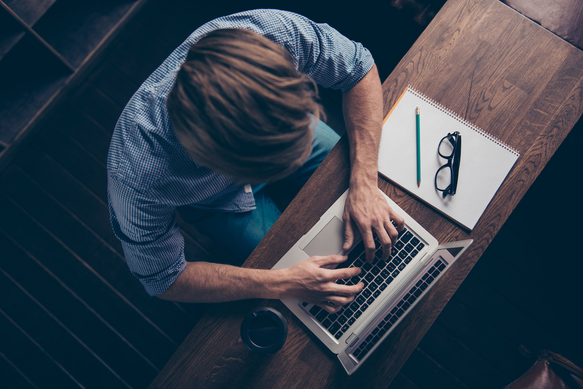
[[[377,186],[378,144],[382,127],[382,87],[373,65],[356,86],[342,94],[350,142],[350,186]]]

